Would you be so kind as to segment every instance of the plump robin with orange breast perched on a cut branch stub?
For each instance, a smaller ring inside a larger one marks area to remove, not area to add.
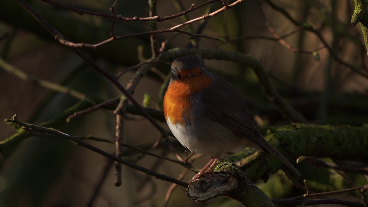
[[[292,172],[301,173],[262,136],[240,92],[202,67],[197,56],[178,57],[163,99],[164,116],[177,140],[191,152],[211,156],[191,180],[213,172],[223,154],[253,147],[276,155]],[[208,169],[207,169],[208,168]]]

